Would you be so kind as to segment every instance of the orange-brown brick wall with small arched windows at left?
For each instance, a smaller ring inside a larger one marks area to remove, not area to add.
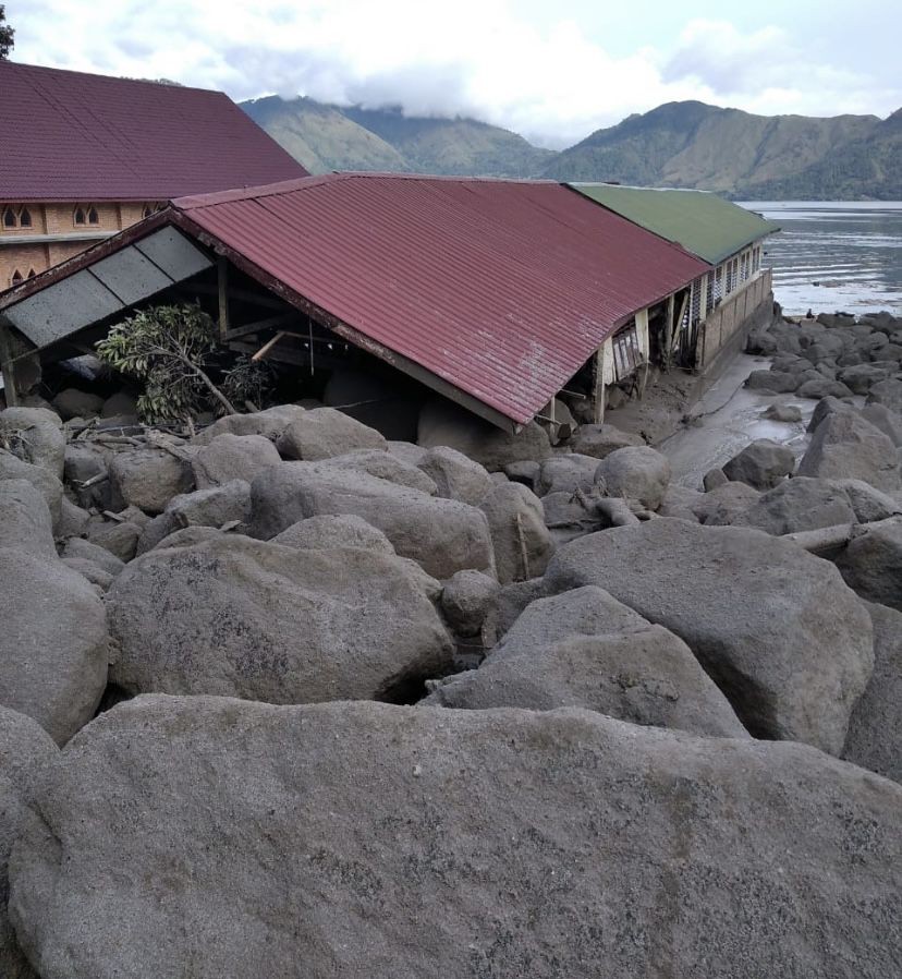
[[[139,221],[158,202],[0,201],[0,291]],[[8,215],[12,213],[13,218]],[[23,220],[24,217],[24,220]],[[96,217],[96,220],[94,218]],[[12,221],[12,222],[11,222]]]

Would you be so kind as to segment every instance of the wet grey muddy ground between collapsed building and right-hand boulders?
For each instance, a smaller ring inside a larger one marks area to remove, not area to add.
[[[660,443],[657,448],[673,468],[673,482],[692,490],[702,488],[708,470],[722,466],[756,438],[770,438],[790,446],[801,456],[808,444],[805,428],[817,401],[794,395],[766,395],[743,387],[753,371],[766,371],[770,360],[736,354],[708,391],[693,404],[692,422]],[[772,422],[763,418],[773,403],[795,404],[801,422]]]

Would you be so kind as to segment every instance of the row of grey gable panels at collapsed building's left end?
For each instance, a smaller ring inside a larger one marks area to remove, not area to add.
[[[38,349],[99,323],[127,306],[190,278],[212,262],[174,228],[163,228],[112,254],[88,263],[74,275],[48,285],[3,314]],[[8,293],[13,299],[16,292]]]

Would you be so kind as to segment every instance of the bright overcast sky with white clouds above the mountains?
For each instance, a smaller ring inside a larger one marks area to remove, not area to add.
[[[15,61],[172,78],[235,100],[300,94],[401,105],[407,114],[473,116],[552,147],[678,99],[764,114],[885,117],[902,106],[898,0],[5,7]]]

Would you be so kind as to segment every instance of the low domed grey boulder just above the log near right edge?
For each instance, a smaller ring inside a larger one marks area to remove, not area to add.
[[[826,480],[796,476],[763,493],[730,522],[733,527],[755,527],[779,536],[855,521],[855,510],[844,490]]]

